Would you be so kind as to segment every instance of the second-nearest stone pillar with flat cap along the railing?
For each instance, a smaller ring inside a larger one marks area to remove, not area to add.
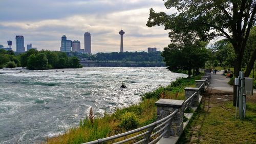
[[[202,84],[201,84],[202,85]],[[191,95],[193,95],[194,93],[197,93],[195,95],[195,97],[192,100],[192,106],[193,107],[197,107],[199,105],[199,92],[200,92],[200,88],[190,88],[190,87],[186,87],[185,89],[185,98],[188,99]]]

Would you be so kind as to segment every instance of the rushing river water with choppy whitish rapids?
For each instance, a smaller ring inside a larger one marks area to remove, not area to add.
[[[98,115],[113,112],[187,76],[165,68],[19,71],[0,70],[0,143],[40,143],[77,126],[91,107]]]

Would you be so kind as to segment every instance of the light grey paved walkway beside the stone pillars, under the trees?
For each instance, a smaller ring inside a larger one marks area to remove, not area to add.
[[[233,92],[233,87],[227,84],[230,78],[226,78],[226,76],[222,74],[223,74],[223,70],[217,72],[217,74],[211,73],[211,81],[210,81],[209,88],[214,90]]]

